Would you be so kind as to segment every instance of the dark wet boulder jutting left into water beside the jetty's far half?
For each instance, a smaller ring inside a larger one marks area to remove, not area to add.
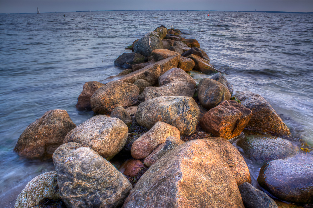
[[[121,68],[129,69],[132,67],[132,65],[143,63],[147,59],[147,57],[142,56],[139,53],[123,53],[121,56],[115,59],[114,65]]]

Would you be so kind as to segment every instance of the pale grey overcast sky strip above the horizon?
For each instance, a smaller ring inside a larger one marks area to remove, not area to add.
[[[82,10],[239,10],[313,12],[313,0],[0,0],[0,13]]]

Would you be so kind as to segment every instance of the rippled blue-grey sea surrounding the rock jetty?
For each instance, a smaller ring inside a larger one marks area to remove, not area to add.
[[[65,14],[65,18],[63,15]],[[207,16],[210,14],[210,16]],[[313,144],[313,17],[205,11],[110,11],[0,15],[0,205],[13,207],[33,177],[53,162],[29,161],[13,148],[44,112],[64,109],[79,125],[83,84],[108,82],[122,71],[113,61],[124,47],[161,24],[195,38],[234,91],[261,94],[292,132]],[[192,72],[199,81],[211,75]],[[303,153],[300,153],[303,154]],[[257,176],[259,167],[254,171]],[[251,171],[251,170],[250,170]]]

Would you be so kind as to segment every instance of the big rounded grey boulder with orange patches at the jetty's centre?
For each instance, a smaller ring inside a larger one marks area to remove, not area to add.
[[[138,106],[136,119],[140,126],[149,129],[162,121],[188,136],[196,131],[199,113],[198,105],[191,97],[156,97]]]

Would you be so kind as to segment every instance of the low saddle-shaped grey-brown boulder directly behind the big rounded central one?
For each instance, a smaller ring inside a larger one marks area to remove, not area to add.
[[[155,97],[165,96],[193,97],[194,91],[194,85],[189,82],[173,81],[161,87],[146,87],[143,93],[145,101],[147,101]]]

